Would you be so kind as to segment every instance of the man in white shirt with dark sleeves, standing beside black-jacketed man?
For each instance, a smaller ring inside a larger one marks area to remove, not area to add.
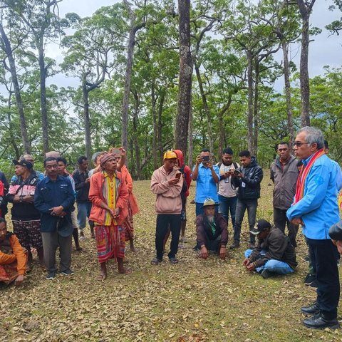
[[[239,166],[237,162],[233,162],[233,150],[230,147],[225,148],[222,153],[222,161],[217,163],[217,167],[219,167],[219,212],[228,222],[228,212],[230,211],[233,228],[237,210],[237,188],[232,185],[232,171]]]

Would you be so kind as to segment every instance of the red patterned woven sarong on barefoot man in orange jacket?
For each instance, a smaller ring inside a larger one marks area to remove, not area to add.
[[[95,237],[100,263],[125,257],[124,227],[114,225],[113,221],[110,226],[95,225]]]

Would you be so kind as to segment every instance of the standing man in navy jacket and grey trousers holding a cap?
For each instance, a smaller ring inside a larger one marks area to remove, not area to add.
[[[55,157],[44,160],[46,177],[38,182],[34,194],[34,206],[41,212],[41,237],[43,239],[44,264],[48,275],[56,277],[56,249],[59,246],[63,275],[71,275],[71,247],[73,225],[71,208],[75,196],[70,180],[58,175],[58,162]]]

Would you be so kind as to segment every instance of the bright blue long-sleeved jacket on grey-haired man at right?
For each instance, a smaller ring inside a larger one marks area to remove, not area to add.
[[[303,160],[308,165],[312,155]],[[330,239],[329,228],[340,220],[337,204],[336,165],[326,155],[314,162],[304,185],[303,198],[286,212],[289,220],[300,217],[303,233],[309,239]]]

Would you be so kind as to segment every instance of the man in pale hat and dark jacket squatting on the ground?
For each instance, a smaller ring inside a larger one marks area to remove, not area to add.
[[[215,213],[217,205],[214,199],[205,199],[204,214],[199,214],[196,218],[197,246],[200,247],[199,256],[203,259],[207,259],[208,252],[217,252],[221,259],[225,259],[227,255],[227,221],[222,214]]]

